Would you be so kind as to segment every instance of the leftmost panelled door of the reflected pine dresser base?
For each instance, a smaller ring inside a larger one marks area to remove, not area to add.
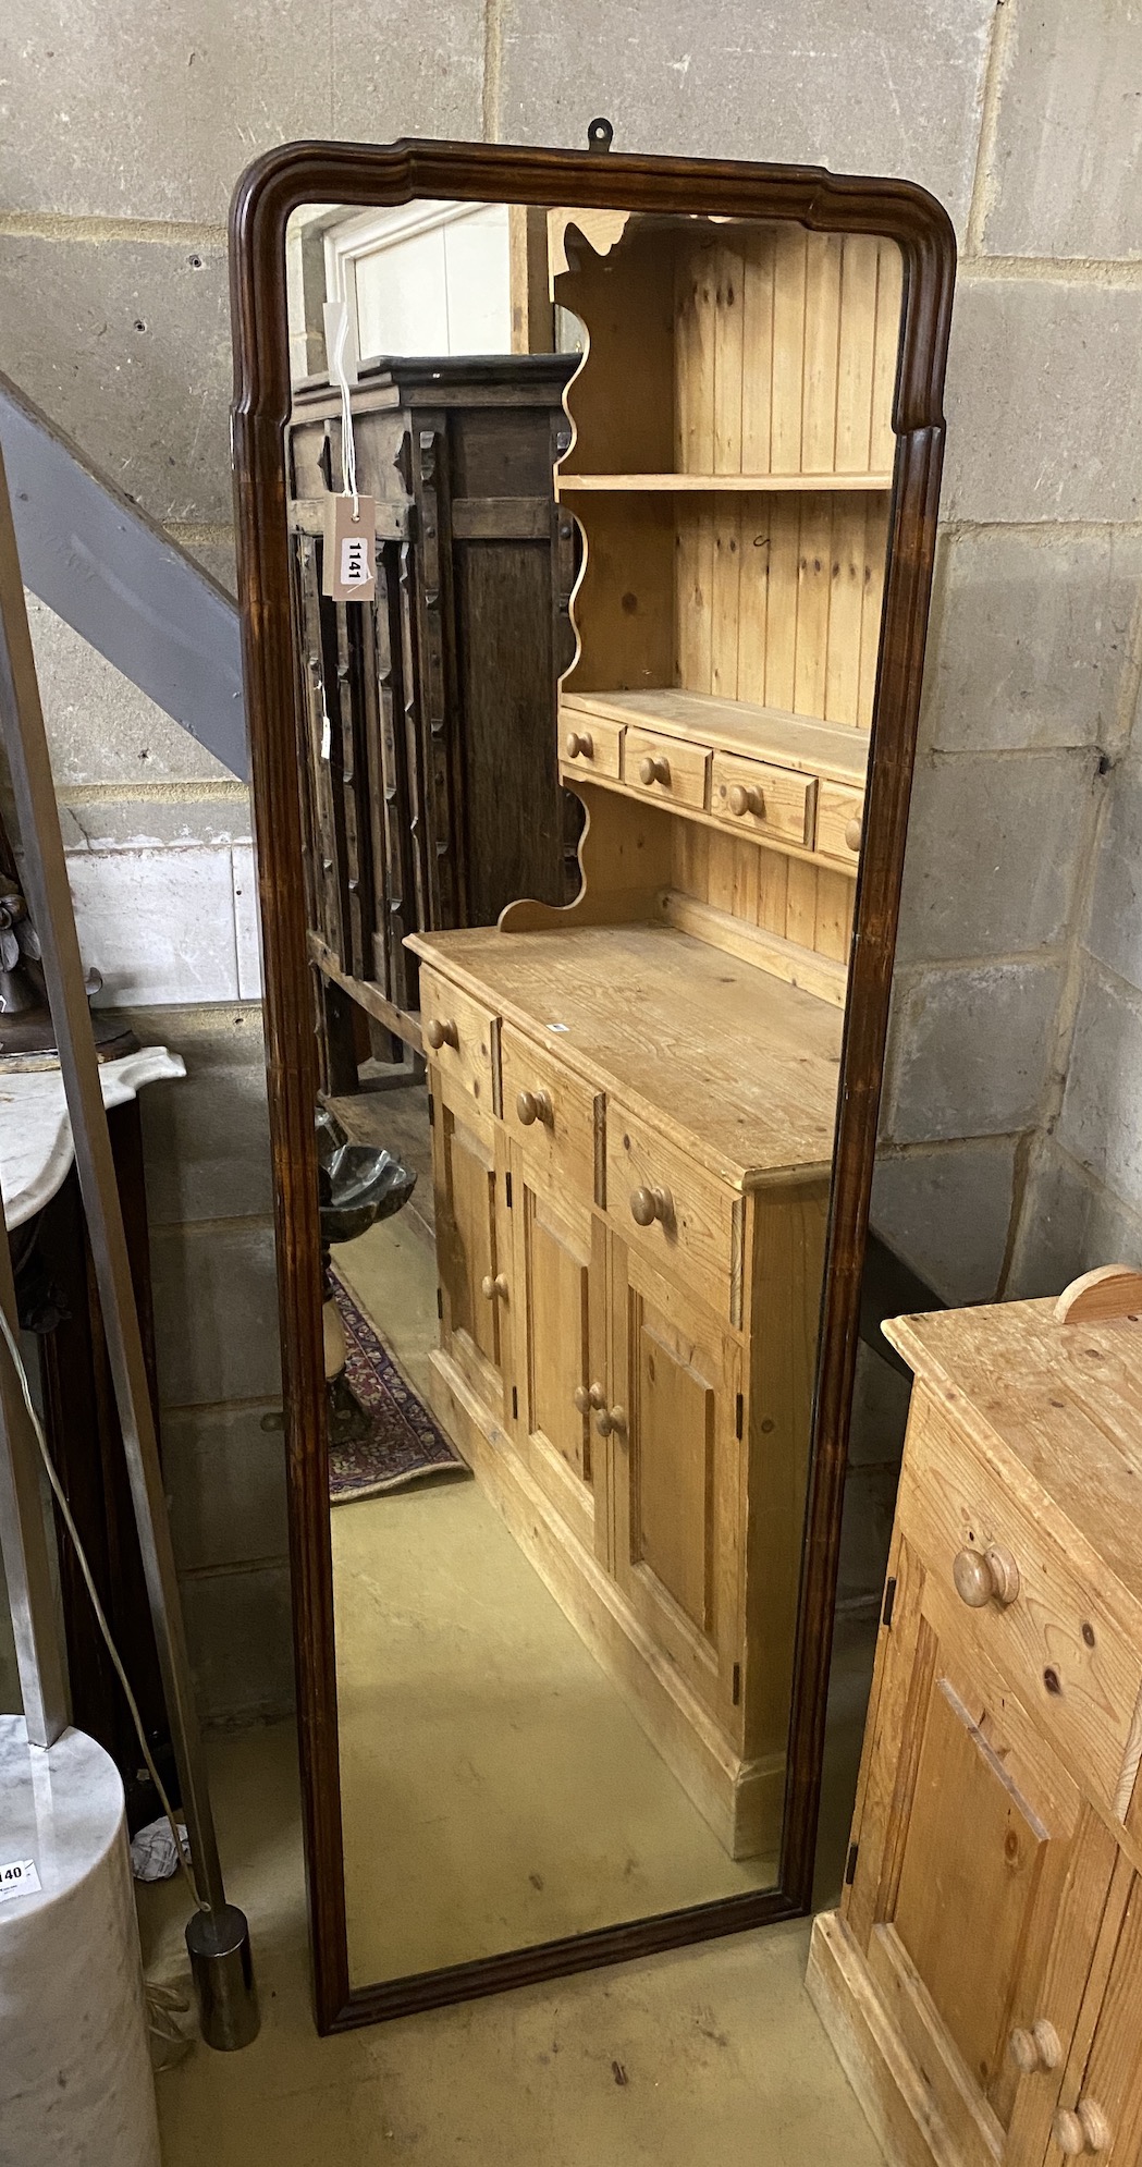
[[[511,1237],[505,1211],[507,1146],[468,1094],[429,1068],[433,1099],[436,1263],[440,1337],[496,1422],[505,1415],[511,1333]]]

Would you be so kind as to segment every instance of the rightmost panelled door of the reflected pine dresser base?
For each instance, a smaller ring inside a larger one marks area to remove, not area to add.
[[[665,1660],[741,1729],[739,1350],[713,1315],[611,1246],[613,1573]]]

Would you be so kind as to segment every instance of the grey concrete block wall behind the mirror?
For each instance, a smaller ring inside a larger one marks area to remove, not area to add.
[[[1133,0],[362,0],[321,26],[26,0],[0,26],[0,368],[219,576],[223,217],[262,147],[583,143],[602,111],[622,150],[904,173],[947,204],[949,466],[873,1209],[949,1300],[1053,1287],[1142,1224],[1140,91]],[[147,1112],[176,1528],[208,1705],[269,1712],[269,1220],[264,1177],[236,1179],[264,1129],[225,1023],[258,992],[247,804],[46,611],[37,657],[89,960],[195,1066]]]

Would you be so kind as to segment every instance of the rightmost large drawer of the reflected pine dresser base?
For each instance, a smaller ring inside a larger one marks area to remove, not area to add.
[[[633,1248],[680,1279],[715,1315],[741,1324],[743,1198],[607,1103],[607,1214]]]

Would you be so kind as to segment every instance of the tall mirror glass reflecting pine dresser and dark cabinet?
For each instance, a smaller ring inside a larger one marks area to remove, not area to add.
[[[776,1881],[901,264],[414,202],[288,290],[364,1985]]]

